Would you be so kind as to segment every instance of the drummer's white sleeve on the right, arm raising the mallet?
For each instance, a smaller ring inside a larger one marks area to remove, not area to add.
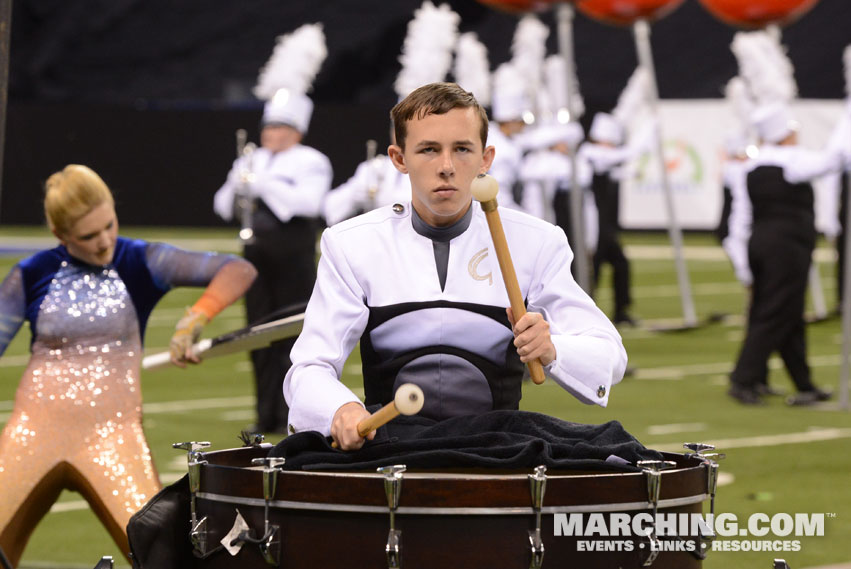
[[[620,334],[570,273],[573,253],[564,232],[553,227],[540,244],[528,310],[550,324],[556,359],[547,375],[583,403],[605,407],[612,385],[626,370]]]

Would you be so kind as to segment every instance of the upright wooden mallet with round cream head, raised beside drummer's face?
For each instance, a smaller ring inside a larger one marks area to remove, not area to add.
[[[517,273],[514,272],[514,264],[511,262],[511,252],[508,250],[508,241],[505,240],[505,232],[502,229],[502,220],[497,211],[496,195],[499,193],[499,183],[493,176],[479,174],[470,186],[473,197],[482,204],[482,211],[488,220],[488,229],[491,232],[493,248],[499,261],[499,270],[502,272],[502,280],[505,282],[505,291],[508,293],[508,301],[511,303],[511,311],[514,313],[514,321],[520,320],[526,314],[526,305],[523,304],[523,293],[520,292],[520,283],[517,282]],[[544,383],[544,367],[540,359],[526,363],[529,366],[529,375],[536,384]]]

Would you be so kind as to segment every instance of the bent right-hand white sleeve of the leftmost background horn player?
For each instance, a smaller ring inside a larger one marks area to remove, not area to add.
[[[257,174],[252,192],[269,206],[275,217],[319,217],[322,198],[331,188],[331,163],[325,156],[304,154],[295,172],[271,168]],[[290,162],[292,164],[292,162]]]

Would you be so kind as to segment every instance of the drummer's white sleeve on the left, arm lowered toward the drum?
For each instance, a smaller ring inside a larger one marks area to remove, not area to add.
[[[363,290],[333,237],[322,234],[316,283],[284,380],[291,429],[326,436],[337,409],[360,402],[339,378],[369,319]]]

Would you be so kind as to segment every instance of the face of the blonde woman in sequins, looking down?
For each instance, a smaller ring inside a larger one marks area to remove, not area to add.
[[[108,265],[115,254],[118,218],[112,204],[102,203],[57,235],[68,253],[90,265]]]

